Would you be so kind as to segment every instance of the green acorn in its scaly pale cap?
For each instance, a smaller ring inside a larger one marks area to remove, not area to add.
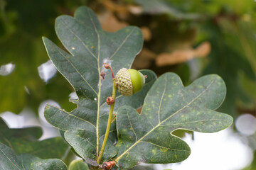
[[[132,96],[145,85],[145,76],[136,69],[122,68],[114,79],[117,90],[124,96]]]

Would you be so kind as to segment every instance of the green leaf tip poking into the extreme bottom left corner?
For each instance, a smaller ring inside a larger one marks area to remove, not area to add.
[[[3,170],[28,170],[31,163],[40,160],[30,154],[19,154],[16,156],[14,151],[0,142],[0,169]]]

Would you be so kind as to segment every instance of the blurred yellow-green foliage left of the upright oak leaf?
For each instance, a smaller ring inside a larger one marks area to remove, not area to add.
[[[0,5],[0,64],[16,65],[9,76],[0,77],[0,113],[18,114],[24,107],[37,111],[39,104],[49,98],[74,108],[68,102],[73,89],[60,74],[47,84],[39,77],[38,67],[49,60],[41,37],[58,42],[53,29],[56,16],[73,13],[85,1],[1,0]]]

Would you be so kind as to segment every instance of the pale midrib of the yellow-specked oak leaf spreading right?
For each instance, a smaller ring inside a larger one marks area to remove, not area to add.
[[[211,84],[213,84],[213,81],[215,81],[215,79],[213,79],[210,84],[206,87],[206,89],[204,89],[201,94],[198,94],[198,96],[196,96],[196,98],[193,98],[192,101],[190,101],[189,103],[186,104],[186,106],[183,106],[183,108],[179,109],[178,111],[176,111],[174,114],[170,115],[168,118],[166,118],[165,120],[161,121],[161,123],[159,123],[158,125],[156,125],[156,127],[152,128],[151,130],[149,130],[149,132],[147,132],[143,137],[141,137],[139,140],[137,140],[137,142],[134,142],[134,144],[129,147],[124,153],[122,153],[119,157],[117,157],[117,159],[115,159],[116,162],[118,162],[119,159],[121,159],[125,154],[127,154],[127,152],[129,152],[130,149],[132,149],[134,146],[136,146],[139,142],[141,142],[142,140],[144,140],[144,138],[149,135],[151,132],[153,132],[154,130],[156,130],[156,128],[159,128],[159,126],[164,123],[166,120],[169,120],[169,118],[173,117],[174,115],[176,115],[178,112],[182,111],[184,108],[188,107],[189,105],[191,105],[191,103],[193,103],[193,101],[196,101],[197,98],[199,98],[205,91],[207,91],[209,89],[209,87],[211,86]]]

